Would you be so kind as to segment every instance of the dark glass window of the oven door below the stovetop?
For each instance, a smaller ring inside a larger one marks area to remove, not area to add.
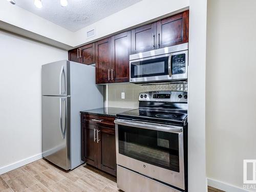
[[[179,172],[179,136],[176,133],[118,125],[119,153]]]

